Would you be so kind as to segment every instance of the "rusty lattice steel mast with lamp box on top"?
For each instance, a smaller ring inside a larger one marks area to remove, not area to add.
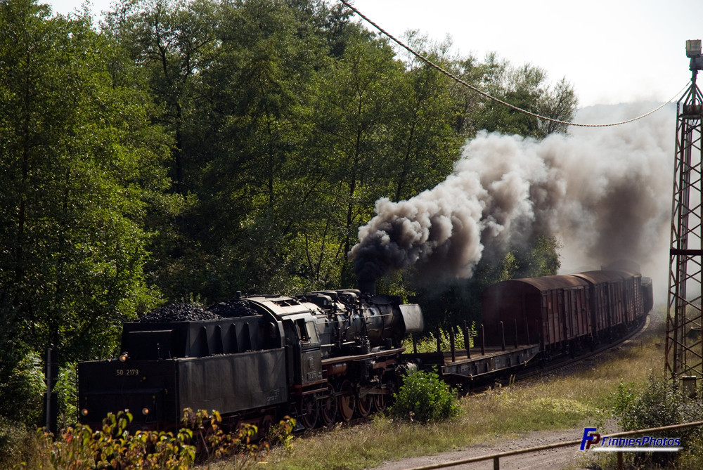
[[[686,41],[691,85],[676,105],[676,158],[671,209],[666,372],[672,379],[703,376],[702,122],[703,95],[696,84],[703,70],[701,41]],[[697,379],[689,379],[697,381]]]

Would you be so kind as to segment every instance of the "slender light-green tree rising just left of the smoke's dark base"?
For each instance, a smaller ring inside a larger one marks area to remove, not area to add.
[[[392,152],[389,125],[395,118],[403,65],[392,49],[359,30],[344,54],[322,72],[317,98],[316,138],[324,148],[321,165],[334,192],[343,266],[342,285],[355,283],[346,254],[373,204],[387,195],[387,157]]]

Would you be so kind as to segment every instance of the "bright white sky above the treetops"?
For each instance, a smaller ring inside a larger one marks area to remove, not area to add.
[[[45,0],[58,13],[82,0]],[[93,0],[93,11],[112,0]],[[690,82],[686,39],[703,39],[702,0],[354,0],[390,34],[418,30],[479,59],[495,51],[565,77],[580,107],[664,102]],[[367,25],[372,29],[370,25]],[[678,96],[676,96],[678,99]]]

